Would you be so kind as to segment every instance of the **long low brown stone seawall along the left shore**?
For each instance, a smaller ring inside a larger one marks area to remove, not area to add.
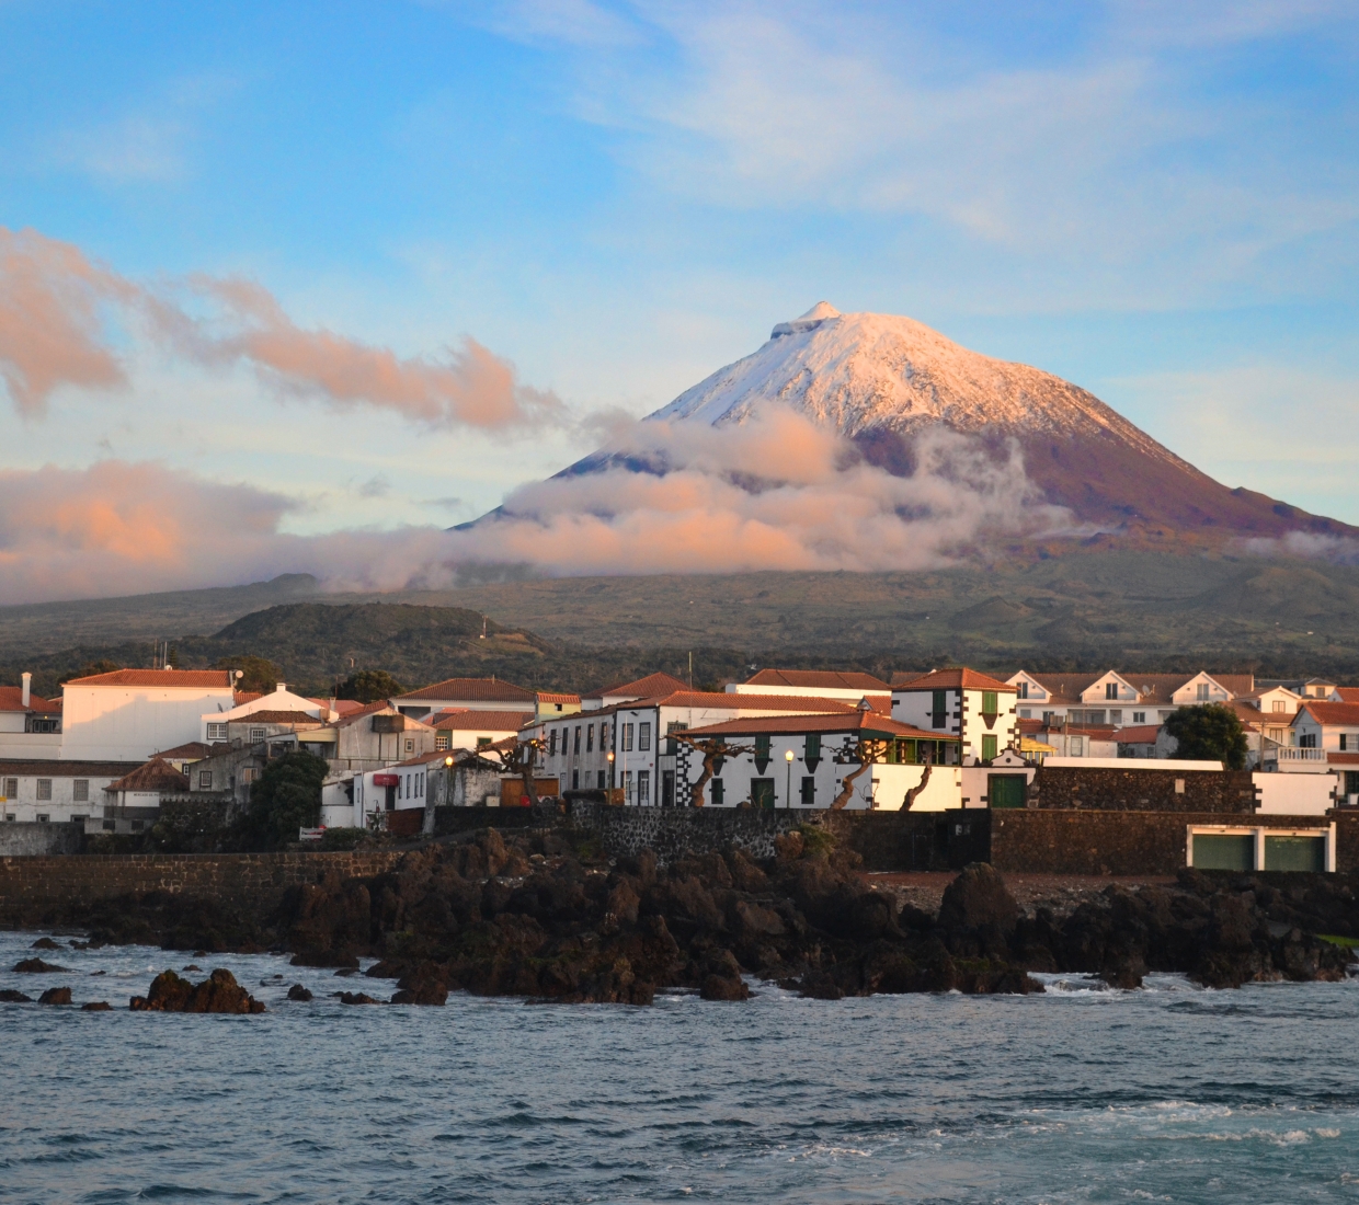
[[[43,826],[48,827],[48,826]],[[283,893],[329,872],[367,878],[390,869],[400,850],[348,853],[124,853],[0,857],[0,918],[41,917],[52,905],[170,891],[268,913]]]

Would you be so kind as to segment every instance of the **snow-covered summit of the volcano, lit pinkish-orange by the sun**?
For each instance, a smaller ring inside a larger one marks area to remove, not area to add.
[[[970,352],[912,318],[841,314],[828,302],[780,322],[754,355],[651,417],[742,422],[771,402],[851,437],[905,436],[936,424],[1019,436],[1098,435],[1184,465],[1097,397],[1049,372]]]

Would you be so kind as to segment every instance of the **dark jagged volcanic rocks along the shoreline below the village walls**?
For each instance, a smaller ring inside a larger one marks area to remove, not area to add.
[[[1354,962],[1343,939],[1359,937],[1355,884],[1337,875],[1185,871],[1171,883],[1091,884],[1065,891],[1067,906],[1022,909],[1002,876],[977,864],[928,910],[866,876],[856,855],[817,830],[780,837],[777,856],[761,863],[741,850],[669,867],[648,852],[616,863],[590,853],[556,833],[491,829],[412,850],[389,874],[292,888],[262,917],[152,893],[49,921],[80,927],[91,941],[198,955],[281,950],[295,965],[337,969],[375,958],[366,974],[395,981],[391,1003],[432,1005],[453,990],[640,1005],[684,988],[739,1001],[752,978],[825,1000],[1041,992],[1029,971],[1120,988],[1148,971],[1214,988],[1335,981]],[[258,1011],[220,975],[200,985],[160,977],[140,1007],[219,1011],[220,996],[228,1011]]]

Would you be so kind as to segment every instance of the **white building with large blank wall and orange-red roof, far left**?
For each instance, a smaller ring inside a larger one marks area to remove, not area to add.
[[[235,706],[228,670],[114,670],[63,687],[61,757],[144,762],[202,739],[205,712]]]

